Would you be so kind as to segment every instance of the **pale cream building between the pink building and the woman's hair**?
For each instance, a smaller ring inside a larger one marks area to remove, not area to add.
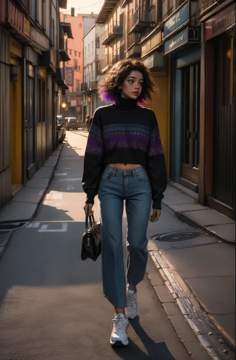
[[[84,67],[82,92],[84,94],[84,119],[87,115],[90,118],[99,106],[105,105],[100,101],[97,94],[97,85],[101,80],[102,60],[105,54],[105,45],[103,45],[105,28],[103,25],[94,23],[86,32],[83,38],[84,42]]]

